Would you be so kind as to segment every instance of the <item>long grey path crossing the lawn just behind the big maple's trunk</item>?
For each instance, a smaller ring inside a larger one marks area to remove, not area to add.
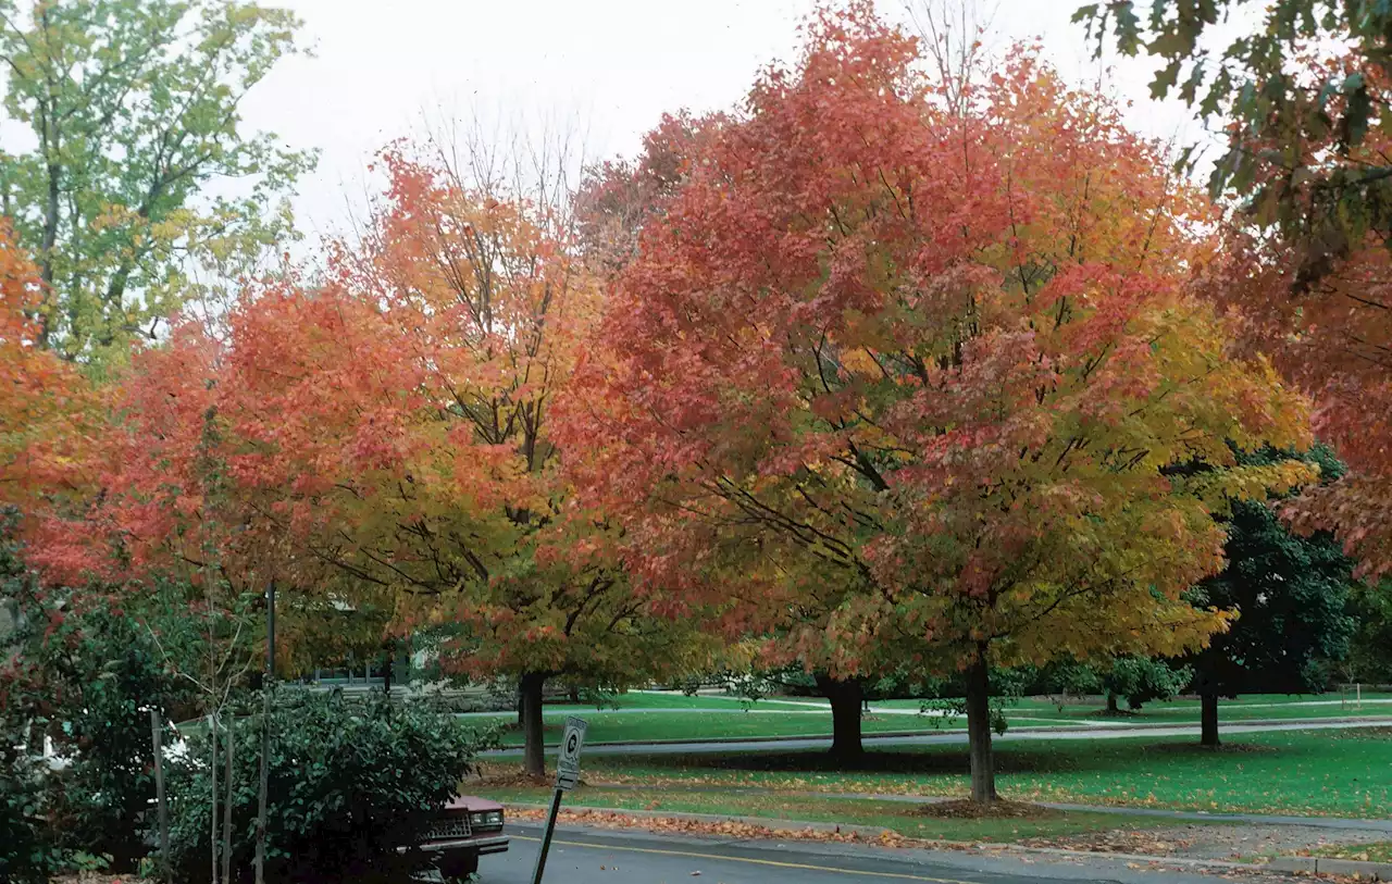
[[[1388,720],[1374,721],[1292,721],[1281,724],[1229,724],[1219,729],[1226,739],[1235,734],[1258,734],[1268,731],[1322,731],[1342,728],[1385,728]],[[1126,728],[1102,727],[1069,731],[1006,731],[997,742],[1015,742],[1019,739],[1118,739],[1125,736],[1199,736],[1197,724],[1183,724],[1162,728]],[[919,734],[916,736],[876,736],[866,734],[862,736],[866,748],[892,746],[930,746],[966,743],[966,731],[948,731],[942,734]],[[795,752],[799,749],[825,749],[831,746],[830,738],[813,739],[803,736],[789,736],[786,739],[766,741],[738,741],[714,742],[693,741],[689,743],[586,743],[585,755],[690,755],[690,753],[739,753],[739,752]],[[519,755],[522,748],[501,749],[487,755]],[[547,748],[548,755],[555,755],[555,746]]]

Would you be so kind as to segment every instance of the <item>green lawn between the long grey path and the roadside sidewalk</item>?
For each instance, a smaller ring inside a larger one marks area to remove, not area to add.
[[[596,784],[962,796],[963,746],[869,752],[839,770],[824,752],[604,756]],[[1392,728],[1243,734],[1219,752],[1193,738],[1019,741],[997,745],[1006,798],[1222,813],[1392,816]]]

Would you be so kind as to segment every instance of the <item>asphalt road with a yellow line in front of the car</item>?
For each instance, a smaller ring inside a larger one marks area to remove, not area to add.
[[[512,846],[507,853],[483,858],[482,884],[530,884],[540,831],[509,826],[509,834]],[[965,852],[736,842],[597,830],[557,831],[543,880],[547,884],[1212,884],[1210,876],[1136,870],[1105,859],[1027,862]]]

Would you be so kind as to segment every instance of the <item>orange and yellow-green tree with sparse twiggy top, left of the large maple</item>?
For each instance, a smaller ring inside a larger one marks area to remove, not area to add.
[[[341,284],[386,305],[393,336],[413,355],[430,409],[412,430],[420,451],[455,448],[444,475],[426,479],[440,466],[422,462],[409,491],[373,496],[374,508],[391,500],[398,525],[412,526],[398,530],[401,574],[388,579],[425,590],[420,611],[432,621],[465,626],[455,665],[516,677],[528,768],[540,773],[547,679],[626,686],[688,650],[683,628],[635,596],[604,515],[572,498],[558,468],[551,413],[600,290],[574,253],[564,203],[469,181],[404,150],[383,164],[387,199],[365,248],[340,256]]]

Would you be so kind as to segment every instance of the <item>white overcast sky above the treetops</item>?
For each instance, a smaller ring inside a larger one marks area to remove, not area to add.
[[[927,3],[930,0],[910,0]],[[941,0],[931,0],[941,3]],[[966,0],[972,1],[972,0]],[[1038,38],[1073,82],[1100,65],[1080,25],[1080,0],[981,0],[990,43]],[[878,0],[906,19],[903,0]],[[482,114],[548,120],[585,134],[586,153],[632,153],[663,111],[727,109],[757,70],[796,56],[796,28],[814,0],[280,0],[305,21],[315,57],[277,67],[248,97],[251,128],[323,152],[302,182],[301,226],[341,231],[361,200],[366,164],[423,120]],[[1115,63],[1115,58],[1109,58]],[[1136,128],[1158,138],[1201,134],[1183,107],[1155,106],[1144,63],[1119,64],[1108,88],[1137,107]]]

